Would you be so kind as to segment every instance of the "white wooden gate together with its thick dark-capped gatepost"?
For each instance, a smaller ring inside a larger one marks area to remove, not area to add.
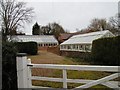
[[[59,69],[63,71],[63,78],[52,77],[38,77],[31,75],[32,68],[47,68],[47,69]],[[63,88],[67,89],[67,83],[84,83],[84,85],[74,88],[85,89],[98,84],[102,84],[109,88],[120,88],[118,81],[111,81],[119,77],[119,66],[91,66],[91,65],[56,65],[56,64],[32,64],[30,59],[27,59],[25,54],[18,54],[17,56],[17,76],[18,76],[18,88],[43,88],[39,86],[32,86],[32,80],[63,82]],[[114,72],[109,76],[103,77],[98,80],[84,80],[84,79],[68,79],[67,70],[78,71],[105,71]]]

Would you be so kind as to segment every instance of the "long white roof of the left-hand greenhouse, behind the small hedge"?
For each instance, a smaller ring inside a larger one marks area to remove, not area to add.
[[[58,43],[53,35],[14,35],[11,38],[17,42]]]

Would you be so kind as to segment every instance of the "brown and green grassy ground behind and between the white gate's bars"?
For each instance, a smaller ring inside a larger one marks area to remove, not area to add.
[[[35,56],[28,56],[32,59],[32,63],[43,63],[43,64],[72,64],[72,65],[89,65],[89,62],[80,60],[75,60],[74,58],[68,58],[68,57],[62,57],[58,56],[53,53],[41,51],[38,55]],[[49,76],[49,77],[56,77],[56,78],[62,78],[62,70],[52,70],[52,69],[33,69],[32,75],[37,76]],[[92,72],[92,71],[73,71],[68,70],[67,75],[69,79],[89,79],[89,80],[95,80],[102,78],[104,76],[109,75],[109,73],[106,72]],[[33,85],[36,86],[45,86],[45,87],[52,87],[52,88],[62,88],[62,83],[58,82],[48,82],[48,81],[38,81],[33,80]],[[75,83],[68,83],[68,88],[74,88],[77,86],[80,86],[82,84],[75,84]],[[102,85],[97,85],[92,88],[106,88]]]

